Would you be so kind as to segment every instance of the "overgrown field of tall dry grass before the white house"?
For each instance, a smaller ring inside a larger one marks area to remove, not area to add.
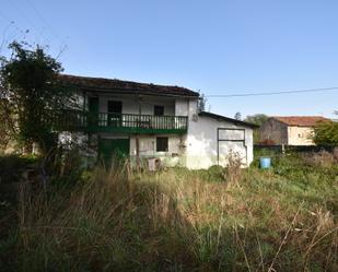
[[[1,271],[338,271],[338,166],[324,153],[271,170],[97,168],[1,209],[15,218]]]

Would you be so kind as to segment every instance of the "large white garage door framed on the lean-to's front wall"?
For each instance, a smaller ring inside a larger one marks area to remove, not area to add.
[[[225,166],[231,153],[241,157],[242,164],[247,163],[245,130],[232,128],[218,129],[218,164]]]

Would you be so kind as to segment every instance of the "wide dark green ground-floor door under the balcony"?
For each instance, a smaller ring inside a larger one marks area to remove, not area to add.
[[[105,164],[126,158],[129,155],[129,139],[100,139],[98,155]]]

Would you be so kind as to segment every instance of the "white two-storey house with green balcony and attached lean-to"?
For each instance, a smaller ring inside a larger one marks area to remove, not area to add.
[[[199,113],[199,93],[185,87],[60,75],[77,92],[79,108],[63,111],[60,141],[81,139],[105,159],[160,158],[191,169],[225,165],[230,152],[253,161],[255,125]]]

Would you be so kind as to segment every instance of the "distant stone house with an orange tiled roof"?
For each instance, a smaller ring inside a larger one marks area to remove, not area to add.
[[[287,145],[314,145],[314,126],[328,119],[322,116],[275,116],[259,128],[260,142]]]

